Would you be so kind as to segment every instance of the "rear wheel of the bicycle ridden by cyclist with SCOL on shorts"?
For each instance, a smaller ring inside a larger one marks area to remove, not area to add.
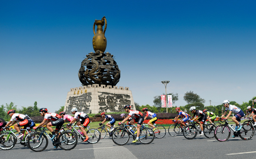
[[[58,137],[58,143],[56,145],[62,150],[72,150],[77,145],[77,136],[74,132],[62,132]]]

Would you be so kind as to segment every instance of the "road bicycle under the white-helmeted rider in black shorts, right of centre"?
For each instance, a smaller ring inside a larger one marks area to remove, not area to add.
[[[204,131],[204,136],[207,138],[213,138],[214,137],[214,130],[215,130],[215,125],[214,124],[207,124],[203,125],[203,131]],[[201,134],[201,126],[193,121],[191,124],[187,125],[183,129],[183,136],[186,139],[194,139],[197,136],[197,133]]]

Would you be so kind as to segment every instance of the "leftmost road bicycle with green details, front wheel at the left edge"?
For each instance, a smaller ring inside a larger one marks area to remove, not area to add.
[[[11,150],[17,141],[20,141],[20,144],[23,146],[28,146],[28,137],[32,134],[30,127],[26,129],[20,129],[21,131],[25,130],[25,134],[23,137],[18,139],[18,136],[15,134],[17,131],[12,128],[5,128],[5,131],[0,134],[0,149],[2,150]]]

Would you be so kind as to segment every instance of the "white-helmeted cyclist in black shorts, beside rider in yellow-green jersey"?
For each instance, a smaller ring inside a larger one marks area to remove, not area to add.
[[[204,135],[203,124],[206,121],[207,116],[204,114],[204,112],[202,110],[196,110],[196,107],[190,107],[189,111],[191,111],[194,114],[193,117],[191,118],[190,122],[195,121],[196,123],[198,123],[201,127],[201,134],[199,134],[199,136]],[[199,121],[200,121],[200,123],[199,123]]]

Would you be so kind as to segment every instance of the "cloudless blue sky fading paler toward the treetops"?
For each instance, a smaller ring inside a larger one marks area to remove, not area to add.
[[[0,105],[65,105],[82,86],[78,70],[92,46],[93,23],[107,18],[105,52],[139,105],[190,90],[219,105],[255,93],[256,2],[205,0],[0,1]]]

